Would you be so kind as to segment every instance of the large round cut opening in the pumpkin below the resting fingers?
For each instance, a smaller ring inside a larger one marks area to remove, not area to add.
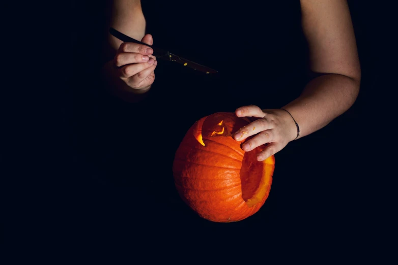
[[[257,149],[245,152],[240,170],[242,198],[248,207],[260,203],[264,196],[267,195],[269,188],[266,167],[270,166],[272,158],[270,157],[263,162],[259,162],[256,159],[258,152],[259,150]]]

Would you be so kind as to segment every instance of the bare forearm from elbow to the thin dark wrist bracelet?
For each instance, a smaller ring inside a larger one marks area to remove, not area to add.
[[[360,81],[338,74],[311,80],[303,93],[284,109],[300,126],[300,137],[311,134],[347,111],[355,102]]]

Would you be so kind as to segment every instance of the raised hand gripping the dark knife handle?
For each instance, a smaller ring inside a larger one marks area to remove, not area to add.
[[[152,45],[152,36],[145,35],[141,42]],[[122,43],[116,53],[116,75],[135,92],[148,90],[155,81],[157,60],[152,53],[152,48],[132,42]]]

